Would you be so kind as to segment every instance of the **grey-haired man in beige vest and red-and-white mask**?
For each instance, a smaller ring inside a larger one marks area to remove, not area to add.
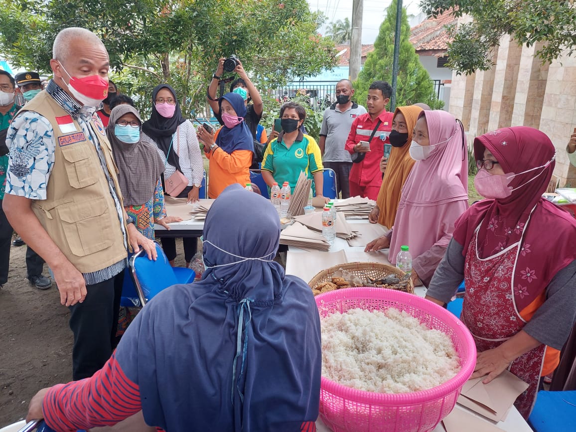
[[[4,206],[70,306],[73,378],[80,380],[112,354],[127,249],[142,246],[151,259],[156,249],[124,211],[112,150],[94,112],[108,93],[104,44],[86,29],[67,28],[52,56],[54,78],[7,134]]]

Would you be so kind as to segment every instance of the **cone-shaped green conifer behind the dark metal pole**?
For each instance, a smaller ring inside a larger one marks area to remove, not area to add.
[[[394,54],[394,35],[396,28],[396,0],[386,10],[386,18],[380,25],[380,32],[374,42],[374,51],[369,52],[366,63],[354,82],[355,100],[365,101],[368,88],[373,81],[382,80],[392,83],[392,62]],[[402,9],[400,31],[399,70],[397,76],[396,106],[412,105],[422,102],[437,109],[444,106],[434,93],[434,84],[430,75],[420,63],[420,58],[410,43],[410,24],[406,9]]]

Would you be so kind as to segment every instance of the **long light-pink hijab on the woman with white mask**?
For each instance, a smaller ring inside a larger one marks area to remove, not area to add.
[[[396,264],[401,245],[412,259],[434,245],[448,246],[454,222],[468,208],[468,151],[456,118],[446,111],[422,111],[428,124],[430,156],[416,161],[400,196],[388,260]]]

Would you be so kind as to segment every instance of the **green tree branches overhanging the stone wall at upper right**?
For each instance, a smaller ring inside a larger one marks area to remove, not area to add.
[[[563,50],[576,51],[576,5],[574,0],[423,0],[423,12],[456,17],[467,14],[472,22],[452,28],[449,66],[460,74],[491,69],[492,47],[510,35],[522,45],[543,43],[536,52],[543,62],[558,58]]]

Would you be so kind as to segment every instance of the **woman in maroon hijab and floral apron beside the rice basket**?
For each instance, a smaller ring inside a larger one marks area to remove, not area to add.
[[[461,320],[478,348],[472,378],[487,384],[509,369],[528,382],[514,403],[528,418],[576,317],[576,222],[542,198],[556,156],[543,132],[488,132],[474,154],[474,184],[487,199],[456,222],[426,297],[444,305],[464,279]]]

